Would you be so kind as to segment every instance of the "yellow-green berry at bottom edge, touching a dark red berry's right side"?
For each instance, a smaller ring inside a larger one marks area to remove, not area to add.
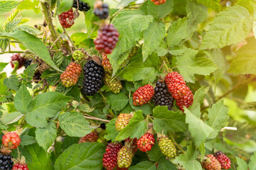
[[[134,156],[132,149],[127,146],[122,147],[117,154],[117,164],[119,168],[128,168],[132,164]]]

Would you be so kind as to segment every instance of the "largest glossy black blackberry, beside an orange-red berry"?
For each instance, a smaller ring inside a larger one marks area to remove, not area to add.
[[[104,69],[101,65],[90,60],[85,63],[83,72],[85,77],[82,82],[82,92],[86,96],[93,96],[103,85]]]

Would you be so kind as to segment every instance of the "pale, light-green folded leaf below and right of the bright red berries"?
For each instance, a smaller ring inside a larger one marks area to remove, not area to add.
[[[200,118],[193,115],[191,111],[184,107],[184,113],[186,113],[186,123],[188,123],[188,130],[191,132],[191,136],[194,139],[196,146],[201,145],[206,141],[206,138],[213,132],[213,128],[203,122]]]

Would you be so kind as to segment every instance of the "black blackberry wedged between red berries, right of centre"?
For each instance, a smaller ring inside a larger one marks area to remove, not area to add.
[[[155,106],[167,106],[168,110],[171,111],[171,107],[174,105],[174,98],[171,97],[165,82],[156,82],[153,101]]]

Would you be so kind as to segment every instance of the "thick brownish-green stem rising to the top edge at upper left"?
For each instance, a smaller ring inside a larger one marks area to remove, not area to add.
[[[46,18],[46,23],[48,24],[48,27],[50,29],[50,34],[52,35],[53,40],[55,41],[58,38],[58,36],[57,36],[57,33],[55,32],[55,29],[54,29],[54,26],[53,26],[53,22],[52,22],[52,18],[50,16],[50,13],[49,13],[48,5],[47,5],[46,2],[45,3],[41,2],[41,6],[43,8],[43,14]],[[61,45],[60,45],[59,40],[55,44],[56,44],[56,47],[58,47],[58,49],[61,49]]]

